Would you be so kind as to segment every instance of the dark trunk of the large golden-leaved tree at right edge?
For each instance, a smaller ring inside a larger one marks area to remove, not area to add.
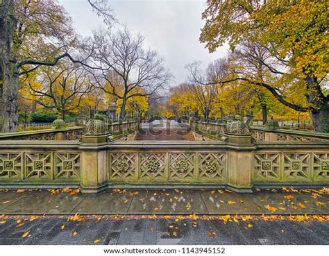
[[[317,133],[329,133],[329,97],[324,96],[317,80],[307,76],[306,101],[312,106],[310,111],[314,130]]]

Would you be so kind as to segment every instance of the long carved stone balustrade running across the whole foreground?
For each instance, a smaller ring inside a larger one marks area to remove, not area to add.
[[[0,187],[329,185],[328,142],[0,141]]]

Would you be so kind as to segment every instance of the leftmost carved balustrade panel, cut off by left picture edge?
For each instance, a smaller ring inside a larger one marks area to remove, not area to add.
[[[0,178],[21,178],[22,155],[0,153]]]

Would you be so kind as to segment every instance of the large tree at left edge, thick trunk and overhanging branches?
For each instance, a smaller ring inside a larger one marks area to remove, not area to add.
[[[112,11],[104,0],[88,0],[97,15],[110,24]],[[42,65],[70,58],[76,46],[71,18],[54,0],[0,1],[0,112],[2,132],[15,131],[19,76]]]

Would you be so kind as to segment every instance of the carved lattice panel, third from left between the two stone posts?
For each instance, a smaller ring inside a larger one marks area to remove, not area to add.
[[[194,178],[194,153],[169,153],[169,178]]]

